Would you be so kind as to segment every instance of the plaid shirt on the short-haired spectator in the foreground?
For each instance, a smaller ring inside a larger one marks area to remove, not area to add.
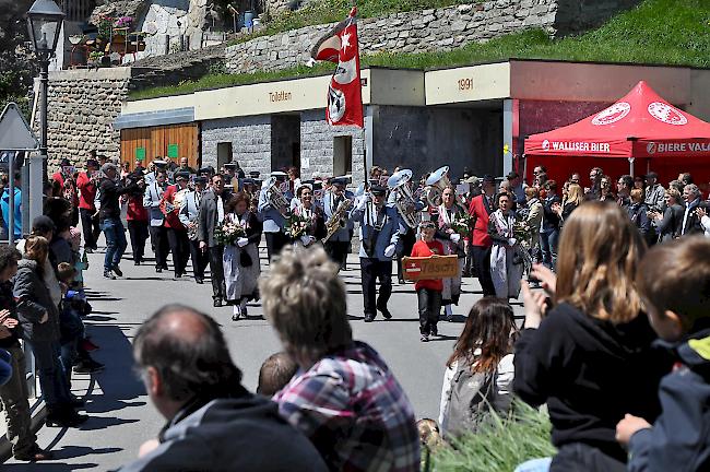
[[[274,401],[331,470],[419,470],[419,436],[410,400],[384,361],[363,342],[320,359]]]

